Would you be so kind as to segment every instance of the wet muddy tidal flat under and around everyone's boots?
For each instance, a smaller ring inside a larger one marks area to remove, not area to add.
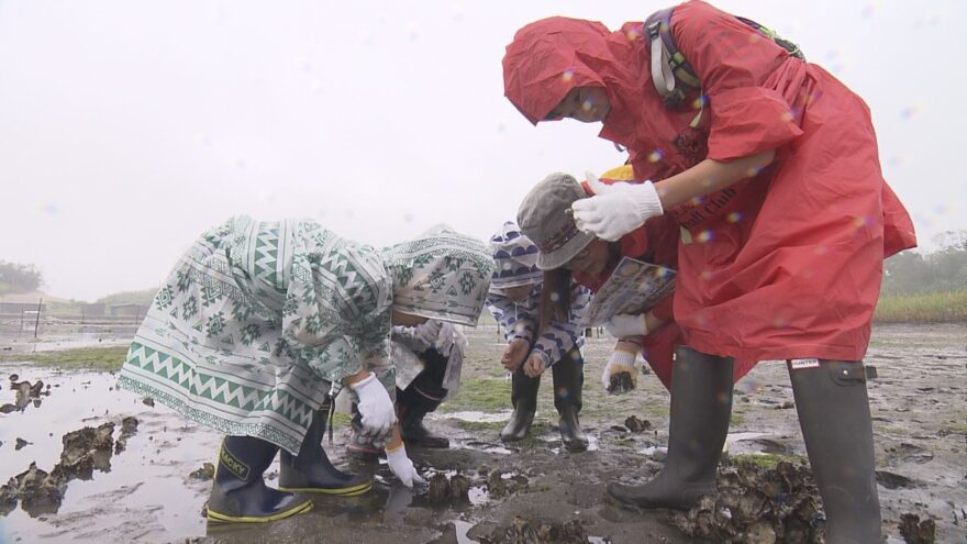
[[[116,390],[109,373],[2,364],[0,407],[13,408],[0,413],[0,542],[822,542],[785,365],[763,363],[736,386],[720,495],[688,512],[640,511],[605,500],[604,488],[660,469],[669,398],[658,380],[607,395],[598,377],[611,341],[591,338],[589,451],[562,447],[549,376],[532,436],[504,444],[502,346],[492,329],[468,335],[462,392],[427,422],[453,447],[410,452],[426,486],[402,488],[385,462],[348,459],[337,417],[326,449],[344,469],[375,473],[374,491],[314,498],[307,514],[255,526],[202,517],[216,433]],[[869,395],[888,541],[967,541],[967,326],[877,327],[866,362],[879,374]],[[277,477],[276,464],[268,484]]]

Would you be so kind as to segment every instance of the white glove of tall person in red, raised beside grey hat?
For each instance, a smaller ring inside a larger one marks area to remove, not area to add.
[[[575,225],[583,232],[614,242],[645,224],[648,218],[665,213],[651,181],[607,185],[591,173],[587,174],[587,179],[594,196],[570,206]]]

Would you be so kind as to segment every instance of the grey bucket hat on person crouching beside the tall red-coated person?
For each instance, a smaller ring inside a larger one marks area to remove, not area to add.
[[[568,210],[575,200],[586,198],[585,189],[567,174],[552,174],[531,189],[518,210],[521,232],[541,253],[537,268],[559,268],[594,240],[578,230]]]

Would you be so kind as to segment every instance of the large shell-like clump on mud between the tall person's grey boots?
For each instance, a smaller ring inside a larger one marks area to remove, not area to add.
[[[719,471],[719,496],[702,497],[670,522],[690,537],[771,544],[822,542],[820,498],[804,465],[737,463]]]

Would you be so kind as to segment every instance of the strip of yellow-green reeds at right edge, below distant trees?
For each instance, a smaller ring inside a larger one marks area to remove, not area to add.
[[[877,323],[956,323],[967,321],[967,290],[880,297]]]

